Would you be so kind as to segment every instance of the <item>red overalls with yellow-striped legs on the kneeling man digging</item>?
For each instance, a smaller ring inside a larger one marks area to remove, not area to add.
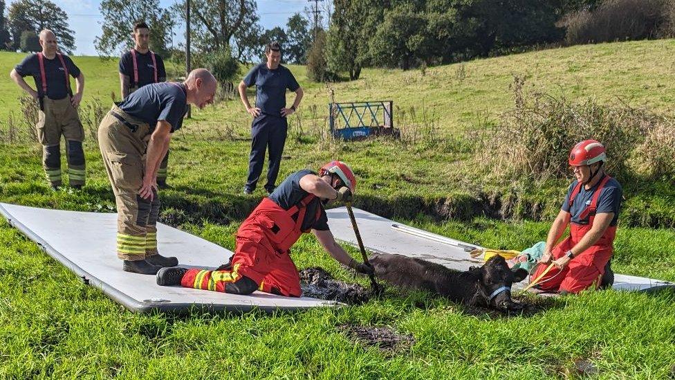
[[[300,235],[307,205],[315,199],[308,194],[297,205],[284,210],[269,198],[251,212],[237,231],[237,248],[232,256],[231,271],[200,271],[190,269],[183,275],[183,287],[225,291],[228,282],[242,275],[259,284],[259,290],[282,296],[299,297],[300,278],[290,258],[290,247]],[[320,216],[317,207],[315,220]],[[293,216],[297,219],[293,220]]]

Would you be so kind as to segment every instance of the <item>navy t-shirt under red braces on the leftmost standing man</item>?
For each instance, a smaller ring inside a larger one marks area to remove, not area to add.
[[[80,76],[80,68],[75,66],[71,57],[63,55],[66,67],[68,67],[68,74],[77,78]],[[42,93],[42,75],[40,73],[40,62],[37,54],[27,55],[20,64],[14,68],[21,77],[32,75],[35,80],[35,87],[39,96],[44,96]],[[47,98],[53,100],[63,99],[68,96],[68,87],[66,87],[66,71],[59,57],[54,56],[53,60],[44,57],[44,75],[47,77]],[[70,78],[68,78],[70,80]]]

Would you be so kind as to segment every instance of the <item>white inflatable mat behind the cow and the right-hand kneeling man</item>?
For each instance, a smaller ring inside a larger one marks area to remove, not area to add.
[[[472,265],[483,264],[482,260],[472,259],[469,255],[473,248],[481,248],[475,244],[409,227],[358,208],[352,208],[352,210],[356,217],[363,244],[369,251],[419,257],[459,271],[466,271]],[[326,213],[335,238],[358,246],[346,208],[333,208],[326,210]],[[513,286],[522,288],[525,284],[526,282],[520,282]],[[615,274],[613,289],[642,290],[662,285],[672,285],[672,283],[651,278]]]

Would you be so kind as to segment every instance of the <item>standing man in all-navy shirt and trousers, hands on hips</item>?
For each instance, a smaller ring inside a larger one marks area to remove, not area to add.
[[[252,194],[258,183],[265,162],[265,150],[269,151],[269,167],[265,190],[268,194],[275,190],[279,174],[281,154],[284,152],[288,120],[295,113],[302,100],[302,88],[293,73],[281,66],[281,46],[272,42],[265,48],[267,61],[254,66],[239,83],[239,97],[246,111],[253,116],[251,125],[251,154],[248,164],[248,179],[243,188],[245,194]],[[255,107],[251,107],[246,96],[246,88],[256,87]],[[295,92],[295,100],[286,108],[286,89]]]

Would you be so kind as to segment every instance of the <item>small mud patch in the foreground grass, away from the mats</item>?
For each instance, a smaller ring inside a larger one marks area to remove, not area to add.
[[[378,347],[385,352],[409,350],[415,343],[415,338],[411,334],[399,334],[387,326],[346,324],[338,326],[338,331],[346,334],[351,341],[370,347]]]

